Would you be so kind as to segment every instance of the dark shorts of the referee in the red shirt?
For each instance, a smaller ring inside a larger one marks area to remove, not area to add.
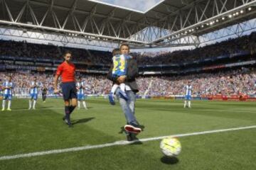
[[[62,83],[61,88],[62,88],[62,91],[63,91],[63,99],[65,101],[68,101],[72,98],[78,98],[75,82]]]

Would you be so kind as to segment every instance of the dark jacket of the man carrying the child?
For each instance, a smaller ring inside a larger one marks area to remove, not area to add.
[[[113,83],[117,82],[118,77],[112,77],[112,69],[113,69],[113,64],[110,68],[110,72],[107,74],[107,79],[110,79],[113,81]],[[139,69],[138,69],[138,64],[137,60],[132,58],[127,60],[127,77],[125,79],[125,84],[129,86],[134,93],[137,93],[139,91],[138,85],[136,82],[136,78],[139,76]]]

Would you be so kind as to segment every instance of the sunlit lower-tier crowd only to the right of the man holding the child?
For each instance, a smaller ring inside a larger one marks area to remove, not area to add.
[[[141,81],[146,79],[141,78]],[[184,87],[188,82],[193,86],[192,94],[201,95],[238,95],[256,93],[256,72],[243,72],[242,70],[191,74],[178,77],[147,78],[152,81],[148,89],[149,96],[183,95]],[[144,95],[144,91],[140,92]]]

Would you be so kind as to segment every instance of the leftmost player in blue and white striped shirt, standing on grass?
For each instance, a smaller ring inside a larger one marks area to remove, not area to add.
[[[2,103],[2,111],[5,110],[6,100],[8,100],[7,111],[11,111],[11,98],[12,98],[12,89],[14,84],[11,82],[11,76],[7,77],[7,81],[4,81],[3,90],[4,90],[4,100]]]

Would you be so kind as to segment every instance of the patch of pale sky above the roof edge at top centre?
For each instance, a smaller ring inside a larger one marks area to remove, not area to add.
[[[90,0],[99,1],[106,4],[111,4],[114,6],[121,6],[124,8],[129,8],[136,11],[146,12],[150,8],[159,4],[162,0]]]

